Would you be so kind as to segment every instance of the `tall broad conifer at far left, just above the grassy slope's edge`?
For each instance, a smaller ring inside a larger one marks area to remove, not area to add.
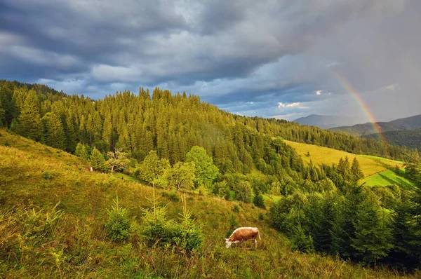
[[[39,100],[35,90],[29,90],[18,118],[18,132],[31,140],[41,140],[41,117],[39,116]]]

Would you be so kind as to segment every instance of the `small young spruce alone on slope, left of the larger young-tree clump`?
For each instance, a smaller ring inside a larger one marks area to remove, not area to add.
[[[113,201],[112,210],[108,210],[108,222],[105,224],[105,231],[112,241],[119,243],[128,240],[130,221],[127,216],[127,209],[121,207],[119,203],[119,196],[116,196]]]

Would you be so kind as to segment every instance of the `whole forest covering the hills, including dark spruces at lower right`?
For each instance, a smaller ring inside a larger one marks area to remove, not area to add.
[[[238,116],[198,96],[159,88],[91,100],[0,81],[0,124],[76,154],[95,171],[125,172],[164,189],[199,189],[262,208],[262,194],[281,196],[268,209],[269,222],[295,250],[369,266],[421,267],[416,151],[274,118]],[[358,161],[305,165],[284,140],[405,161],[415,186],[369,188],[359,183]]]

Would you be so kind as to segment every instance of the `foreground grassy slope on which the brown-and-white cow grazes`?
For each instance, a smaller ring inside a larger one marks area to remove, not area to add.
[[[269,227],[265,210],[199,195],[188,196],[187,206],[203,226],[202,247],[191,256],[171,247],[149,248],[138,229],[151,187],[87,172],[83,161],[64,151],[4,130],[0,134],[0,278],[402,277],[293,252],[289,241]],[[128,243],[112,243],[104,231],[116,193],[135,224]],[[168,195],[160,201],[168,204],[169,217],[178,218],[179,201]],[[258,226],[257,249],[250,243],[225,248],[223,238],[236,226]]]

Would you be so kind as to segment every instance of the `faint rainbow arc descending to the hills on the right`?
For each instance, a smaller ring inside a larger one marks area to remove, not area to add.
[[[379,137],[380,142],[386,143],[385,137],[382,135],[382,128],[380,128],[380,125],[378,125],[375,121],[374,115],[371,113],[370,109],[368,109],[366,103],[363,101],[361,96],[356,92],[356,90],[352,87],[351,83],[345,79],[344,76],[342,76],[338,71],[335,71],[333,67],[329,67],[330,71],[333,73],[333,76],[338,80],[338,83],[347,90],[349,94],[354,97],[356,100],[356,103],[361,108],[361,111],[363,111],[363,114],[365,114],[368,118],[368,122],[373,126],[373,129],[375,132],[377,132],[377,135]]]

